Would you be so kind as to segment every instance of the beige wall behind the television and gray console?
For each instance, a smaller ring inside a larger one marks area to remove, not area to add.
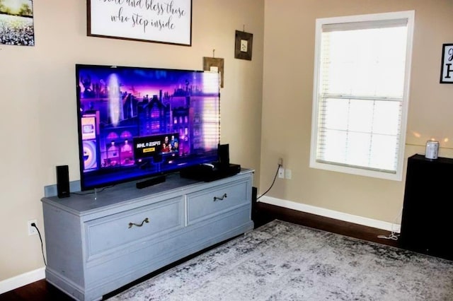
[[[71,181],[79,179],[76,63],[202,69],[215,49],[225,59],[222,143],[232,162],[258,175],[262,0],[194,0],[192,47],[87,37],[86,1],[33,2],[35,47],[0,45],[0,282],[44,266],[27,220],[37,218],[44,232],[40,198],[55,184],[55,166],[69,165]],[[234,59],[234,31],[244,26],[253,33],[252,61]]]

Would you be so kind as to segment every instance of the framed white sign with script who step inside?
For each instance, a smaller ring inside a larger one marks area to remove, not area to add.
[[[192,0],[87,0],[87,35],[192,45]]]

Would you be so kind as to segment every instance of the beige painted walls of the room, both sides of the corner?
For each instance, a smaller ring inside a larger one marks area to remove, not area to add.
[[[86,37],[86,1],[34,1],[36,46],[0,45],[0,282],[43,266],[26,222],[37,218],[44,232],[40,198],[55,184],[55,165],[79,179],[76,63],[202,69],[216,49],[225,59],[222,142],[231,161],[256,170],[260,192],[282,157],[292,179],[277,179],[269,196],[394,222],[404,182],[309,168],[314,22],[405,10],[415,10],[406,158],[428,138],[453,157],[453,85],[439,84],[442,43],[453,42],[451,0],[194,0],[192,47]],[[253,33],[252,61],[234,59],[243,25]]]

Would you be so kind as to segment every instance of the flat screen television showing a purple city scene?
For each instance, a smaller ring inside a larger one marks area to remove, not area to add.
[[[219,73],[76,64],[81,189],[217,160]]]

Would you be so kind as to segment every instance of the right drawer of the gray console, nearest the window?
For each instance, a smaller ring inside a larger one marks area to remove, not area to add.
[[[248,205],[248,189],[248,182],[234,182],[188,194],[188,224]]]

